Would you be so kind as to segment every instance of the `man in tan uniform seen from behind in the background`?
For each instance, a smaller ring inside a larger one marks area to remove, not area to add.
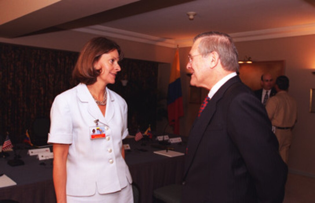
[[[288,163],[292,142],[291,131],[297,119],[297,106],[295,99],[288,94],[288,77],[279,76],[275,88],[277,94],[267,101],[266,110],[279,142],[279,153],[283,161]]]

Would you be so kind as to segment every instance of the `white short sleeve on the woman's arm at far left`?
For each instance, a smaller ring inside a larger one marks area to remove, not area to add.
[[[67,100],[58,95],[50,110],[48,144],[72,144],[72,119]]]

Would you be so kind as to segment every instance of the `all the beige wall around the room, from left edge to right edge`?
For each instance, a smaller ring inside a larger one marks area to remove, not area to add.
[[[75,31],[59,31],[15,39],[0,38],[0,42],[21,44],[43,48],[80,51],[83,44],[96,35]],[[123,49],[126,58],[172,63],[175,49],[151,44],[114,39]],[[285,74],[290,79],[289,93],[298,103],[298,122],[293,131],[294,140],[289,154],[291,171],[315,177],[315,113],[309,113],[310,88],[315,88],[315,35],[287,37],[271,40],[237,42],[239,58],[250,56],[254,61],[285,60]],[[180,133],[189,134],[197,115],[199,104],[189,104],[189,77],[186,76],[187,55],[190,48],[180,48],[180,69],[185,116],[181,118]],[[159,87],[167,92],[169,64],[159,68]],[[203,94],[206,93],[203,91]],[[162,129],[164,124],[160,124]],[[171,128],[166,128],[171,132]]]

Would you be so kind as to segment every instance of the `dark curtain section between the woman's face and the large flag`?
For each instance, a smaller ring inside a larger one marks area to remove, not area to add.
[[[135,134],[138,127],[145,131],[149,125],[156,130],[157,110],[157,68],[152,61],[123,59],[120,62],[121,72],[110,89],[120,94],[128,104],[128,128]],[[127,80],[123,86],[121,80]]]

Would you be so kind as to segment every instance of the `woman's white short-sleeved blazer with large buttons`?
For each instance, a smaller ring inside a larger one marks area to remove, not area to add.
[[[105,117],[85,84],[59,94],[51,107],[48,143],[70,144],[67,157],[67,195],[94,195],[119,191],[132,183],[121,149],[128,135],[127,104],[106,87]],[[89,127],[105,125],[106,138],[90,139]]]

